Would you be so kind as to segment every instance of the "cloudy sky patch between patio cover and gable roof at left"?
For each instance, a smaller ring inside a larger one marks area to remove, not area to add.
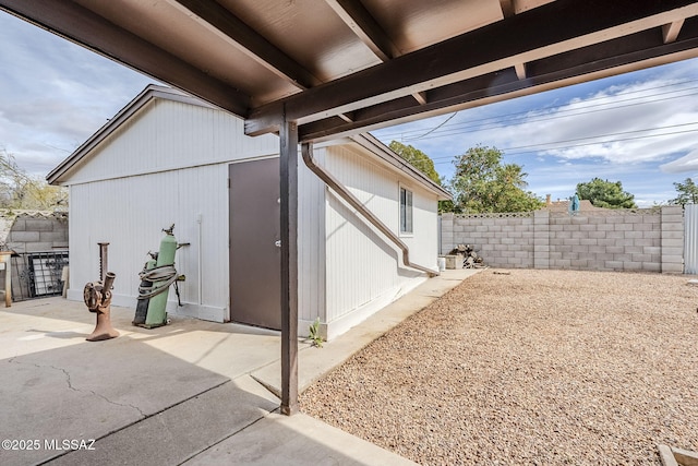
[[[46,175],[152,80],[0,12],[0,146]]]

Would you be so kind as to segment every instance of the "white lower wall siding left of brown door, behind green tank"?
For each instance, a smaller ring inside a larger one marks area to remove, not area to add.
[[[198,218],[202,231],[201,301],[204,308],[228,309],[228,199],[227,164],[165,171],[70,188],[71,296],[80,296],[87,282],[99,278],[97,242],[109,242],[109,270],[117,274],[115,302],[135,303],[139,272],[148,251],[157,251],[161,229],[174,224],[179,242],[176,266],[186,280],[180,284],[182,301],[198,304]],[[170,301],[176,298],[170,294]],[[196,308],[198,309],[198,308]],[[188,313],[188,309],[173,309]]]

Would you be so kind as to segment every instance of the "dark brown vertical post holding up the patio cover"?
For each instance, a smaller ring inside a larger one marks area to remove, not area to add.
[[[279,129],[281,189],[281,413],[298,413],[298,124]]]

